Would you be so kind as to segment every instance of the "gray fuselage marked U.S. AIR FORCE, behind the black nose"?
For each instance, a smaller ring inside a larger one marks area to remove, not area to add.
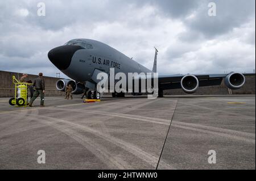
[[[92,45],[92,49],[79,49],[73,56],[67,69],[61,70],[68,77],[77,82],[90,81],[95,69],[109,74],[110,68],[114,68],[115,74],[125,73],[151,73],[152,71],[143,65],[125,56],[118,50],[90,39],[74,39],[69,42],[84,42]],[[64,45],[65,46],[65,45]],[[68,46],[68,45],[67,45]]]

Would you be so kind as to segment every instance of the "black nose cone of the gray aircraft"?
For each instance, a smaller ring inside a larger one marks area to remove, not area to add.
[[[84,48],[77,45],[63,45],[50,50],[48,58],[58,69],[65,70],[71,64],[74,53],[80,49]]]

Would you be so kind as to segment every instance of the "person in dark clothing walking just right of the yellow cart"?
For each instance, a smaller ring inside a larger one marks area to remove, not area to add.
[[[32,107],[32,103],[36,98],[38,98],[40,94],[40,98],[41,98],[40,107],[44,107],[44,92],[46,90],[45,89],[46,85],[44,83],[43,73],[39,73],[39,77],[35,79],[35,81],[33,82],[33,86],[35,86],[35,94],[30,100],[30,103],[28,104],[28,106]]]

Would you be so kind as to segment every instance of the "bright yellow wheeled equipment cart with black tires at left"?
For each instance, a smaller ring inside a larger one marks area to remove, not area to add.
[[[32,83],[19,82],[13,75],[13,83],[15,85],[14,98],[9,100],[11,106],[27,107],[27,87],[33,85]]]

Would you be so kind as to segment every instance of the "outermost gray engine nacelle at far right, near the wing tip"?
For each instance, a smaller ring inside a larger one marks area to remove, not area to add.
[[[245,76],[241,73],[230,73],[225,78],[225,85],[229,89],[240,89],[245,84]]]

